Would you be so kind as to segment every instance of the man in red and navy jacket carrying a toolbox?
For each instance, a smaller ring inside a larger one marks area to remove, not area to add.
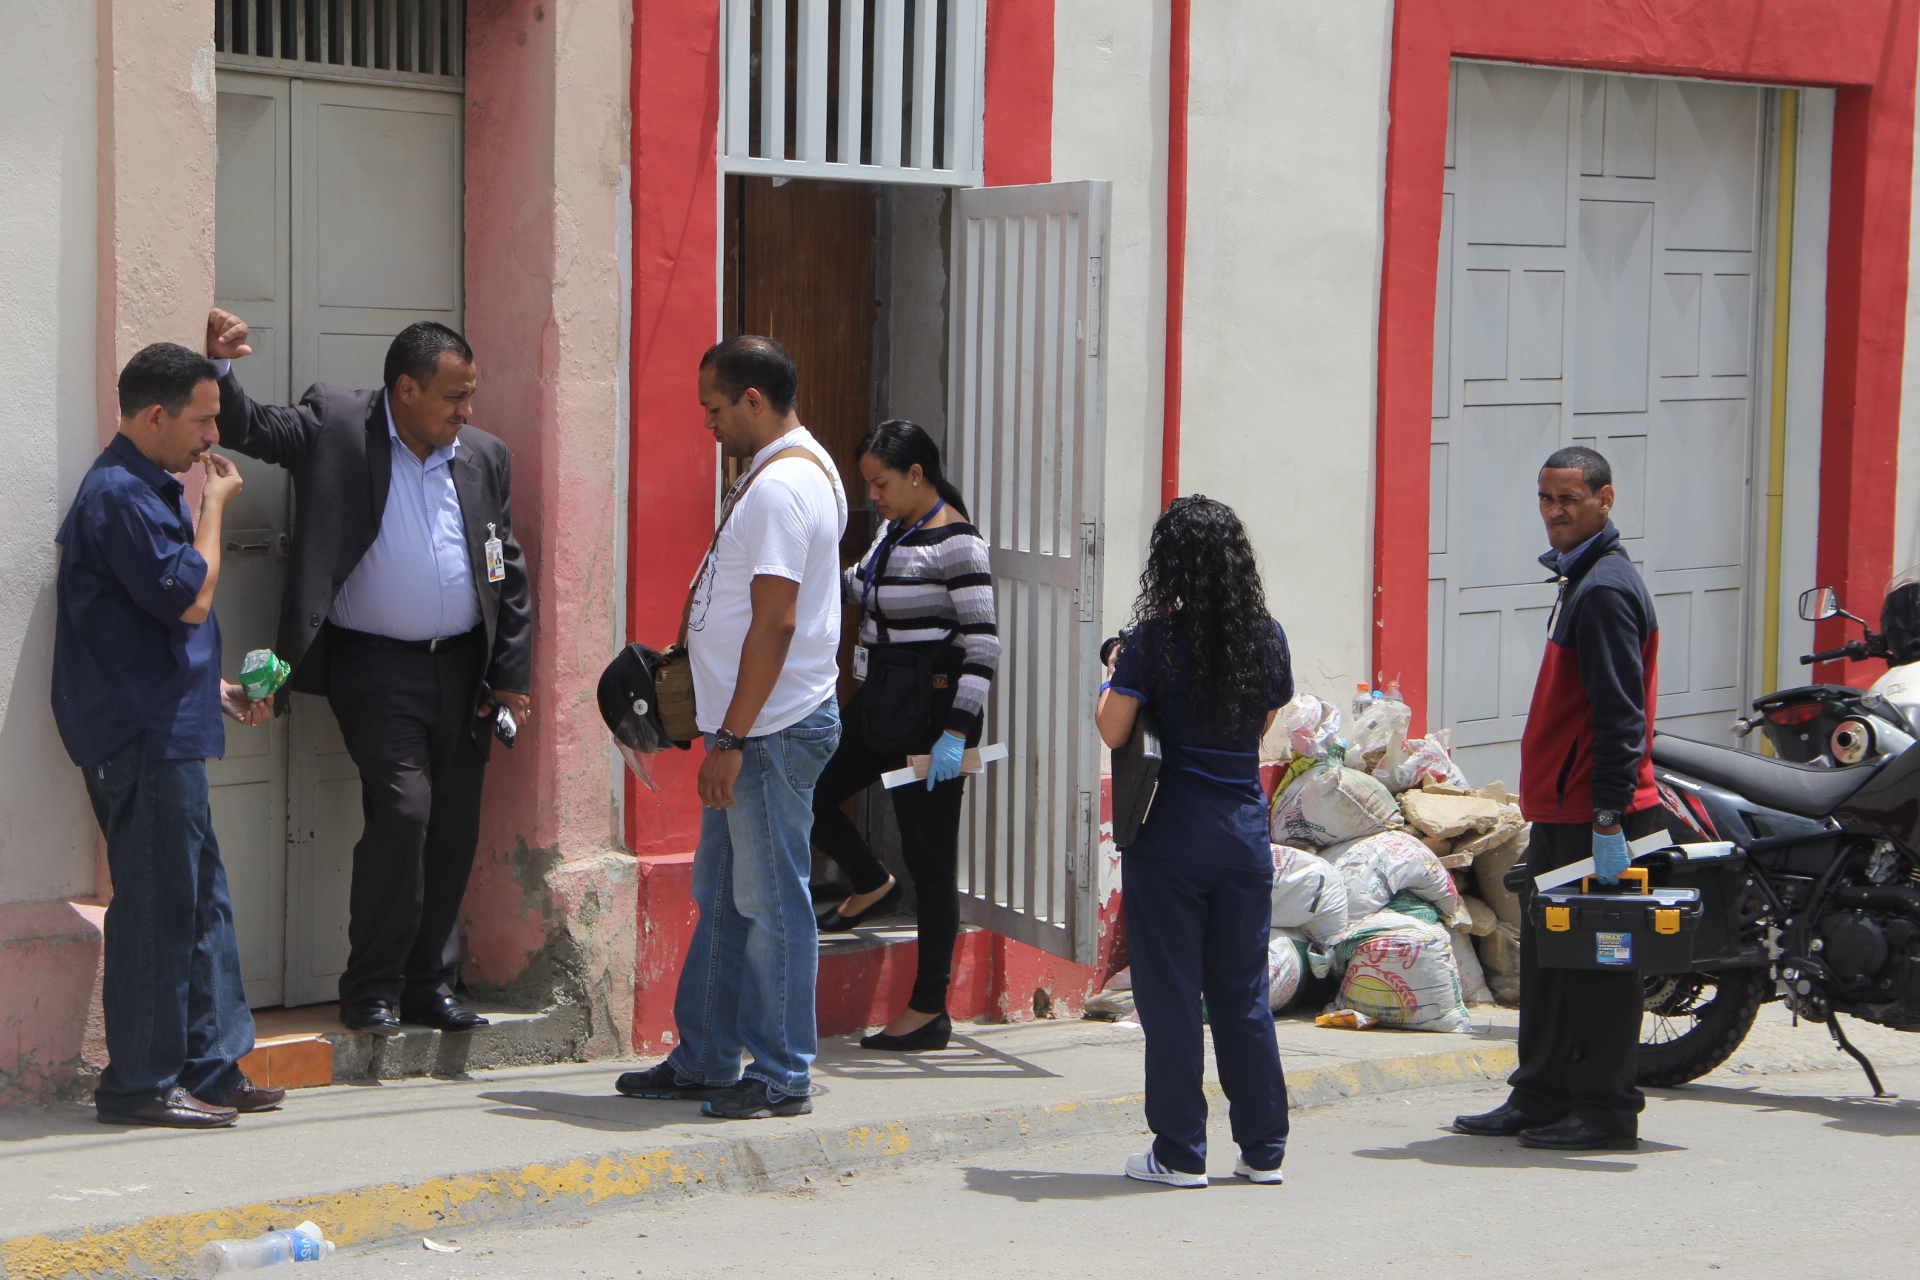
[[[1628,841],[1663,825],[1651,756],[1661,633],[1611,510],[1613,468],[1596,451],[1561,449],[1540,468],[1553,545],[1540,562],[1559,580],[1559,601],[1521,737],[1521,812],[1534,823],[1526,873],[1592,858],[1607,885],[1630,862]],[[1455,1132],[1519,1134],[1521,1146],[1557,1151],[1638,1150],[1642,1000],[1632,969],[1542,969],[1523,923],[1513,1094],[1455,1119]]]

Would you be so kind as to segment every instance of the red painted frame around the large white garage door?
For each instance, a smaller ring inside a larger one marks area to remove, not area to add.
[[[1822,583],[1878,606],[1893,568],[1914,12],[1916,0],[1400,0],[1380,273],[1373,666],[1402,674],[1417,714],[1427,699],[1427,459],[1448,61],[1839,86],[1818,562]],[[1837,643],[1839,628],[1828,624],[1820,645]]]

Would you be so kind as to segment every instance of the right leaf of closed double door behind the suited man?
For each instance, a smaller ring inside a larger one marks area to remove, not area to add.
[[[401,328],[461,326],[463,98],[294,81],[292,102],[292,386],[380,386]],[[346,967],[359,770],[324,699],[296,693],[290,720],[286,1000],[311,1004]]]

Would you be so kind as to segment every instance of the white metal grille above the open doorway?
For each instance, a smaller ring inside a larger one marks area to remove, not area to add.
[[[981,182],[985,0],[726,0],[728,173]]]

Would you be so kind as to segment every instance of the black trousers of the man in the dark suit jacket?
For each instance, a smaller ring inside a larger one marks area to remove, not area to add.
[[[342,1004],[453,994],[461,898],[480,841],[486,758],[474,693],[486,643],[440,652],[330,637],[328,700],[361,773]]]

